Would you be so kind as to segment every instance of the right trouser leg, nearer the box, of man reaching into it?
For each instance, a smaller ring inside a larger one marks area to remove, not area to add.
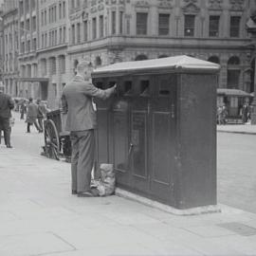
[[[90,190],[91,173],[94,163],[94,130],[83,131],[79,140],[79,160],[77,167],[78,192]]]

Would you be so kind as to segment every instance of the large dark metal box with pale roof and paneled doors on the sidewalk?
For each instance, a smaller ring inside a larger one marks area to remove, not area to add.
[[[218,70],[177,56],[93,73],[98,87],[118,84],[96,101],[97,161],[114,164],[120,188],[177,209],[216,204]]]

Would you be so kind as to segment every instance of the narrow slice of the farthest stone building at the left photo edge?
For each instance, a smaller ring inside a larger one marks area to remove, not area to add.
[[[18,94],[18,2],[5,1],[2,14],[3,74],[2,81],[6,92],[11,96]]]

